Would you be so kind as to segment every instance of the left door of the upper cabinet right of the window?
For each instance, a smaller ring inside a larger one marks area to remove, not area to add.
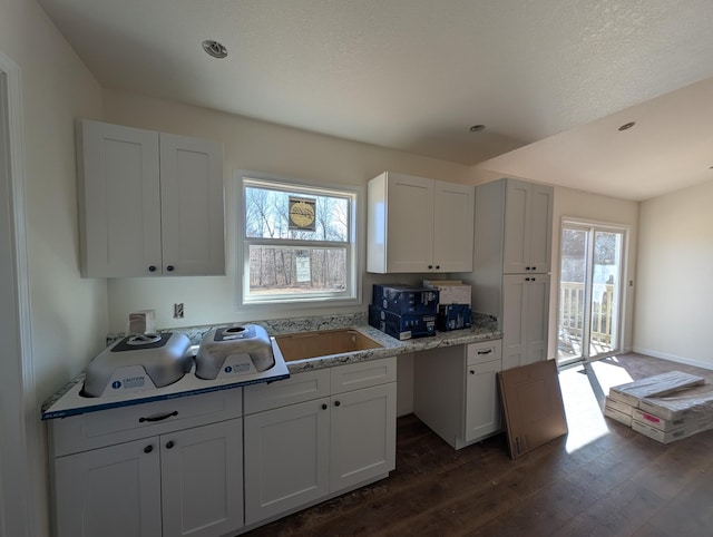
[[[389,174],[387,272],[428,272],[433,266],[433,180]]]

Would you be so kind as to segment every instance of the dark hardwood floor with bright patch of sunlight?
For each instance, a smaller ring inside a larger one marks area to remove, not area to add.
[[[516,460],[504,435],[453,450],[398,420],[389,478],[253,536],[711,536],[713,431],[661,445],[604,418],[611,385],[713,371],[625,354],[559,374],[569,433]]]

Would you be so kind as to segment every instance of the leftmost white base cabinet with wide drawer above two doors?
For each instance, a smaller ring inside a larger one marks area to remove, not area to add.
[[[234,389],[51,420],[55,535],[238,530],[241,414],[241,389]]]

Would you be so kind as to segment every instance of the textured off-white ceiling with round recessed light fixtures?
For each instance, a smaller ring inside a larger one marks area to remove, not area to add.
[[[710,0],[39,3],[106,88],[626,199],[713,179]]]

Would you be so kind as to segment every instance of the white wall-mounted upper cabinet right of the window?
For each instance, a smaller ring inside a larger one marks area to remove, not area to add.
[[[472,186],[384,172],[368,197],[369,272],[472,270]]]

